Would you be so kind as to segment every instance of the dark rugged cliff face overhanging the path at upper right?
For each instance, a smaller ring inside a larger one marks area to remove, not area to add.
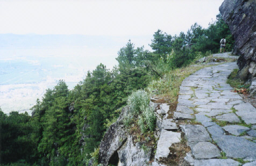
[[[252,80],[256,77],[256,1],[225,0],[219,11],[234,37],[234,53],[240,56],[238,77]]]

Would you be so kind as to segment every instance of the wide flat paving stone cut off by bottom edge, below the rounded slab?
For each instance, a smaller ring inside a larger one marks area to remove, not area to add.
[[[232,159],[195,160],[194,166],[239,166],[240,163]]]

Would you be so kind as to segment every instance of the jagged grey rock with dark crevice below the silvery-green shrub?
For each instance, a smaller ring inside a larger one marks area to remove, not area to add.
[[[123,125],[129,107],[123,108],[118,120],[105,133],[99,146],[99,163],[102,165],[147,165],[153,147],[141,148],[144,142],[133,142]]]

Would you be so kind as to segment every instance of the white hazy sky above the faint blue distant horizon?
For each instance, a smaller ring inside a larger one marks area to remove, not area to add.
[[[223,0],[0,0],[0,33],[153,35],[208,27]]]

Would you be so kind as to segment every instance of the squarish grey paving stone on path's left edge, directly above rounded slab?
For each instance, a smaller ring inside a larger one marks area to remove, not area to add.
[[[185,134],[189,146],[193,146],[197,142],[211,141],[207,130],[201,125],[183,125],[182,132]]]

